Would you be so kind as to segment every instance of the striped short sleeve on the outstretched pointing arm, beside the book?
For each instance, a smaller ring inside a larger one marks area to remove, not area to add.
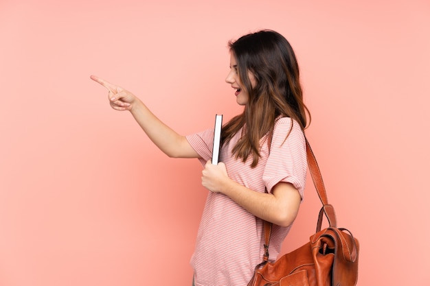
[[[214,128],[185,136],[192,149],[199,154],[199,160],[203,165],[212,158],[214,148]]]

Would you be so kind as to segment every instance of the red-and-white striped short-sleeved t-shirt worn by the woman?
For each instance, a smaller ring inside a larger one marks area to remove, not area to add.
[[[223,145],[220,162],[225,163],[229,178],[254,191],[271,192],[278,182],[290,182],[303,198],[306,180],[306,145],[297,122],[280,118],[273,130],[271,148],[267,136],[260,140],[258,165],[251,169],[252,158],[245,163],[232,156],[231,150],[242,134],[241,130]],[[205,165],[212,158],[214,128],[187,136]],[[282,241],[291,226],[273,225],[269,247],[270,259],[278,257]],[[254,267],[262,261],[264,231],[262,219],[255,217],[222,193],[207,195],[196,239],[191,265],[196,286],[247,285]]]

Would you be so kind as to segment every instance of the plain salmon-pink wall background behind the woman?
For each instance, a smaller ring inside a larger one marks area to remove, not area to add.
[[[201,165],[159,152],[89,75],[199,131],[240,112],[227,41],[261,28],[297,53],[358,285],[427,283],[429,1],[0,0],[0,285],[190,285]],[[284,252],[318,211],[309,182]]]

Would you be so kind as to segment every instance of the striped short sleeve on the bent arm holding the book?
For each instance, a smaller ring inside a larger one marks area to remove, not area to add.
[[[264,167],[263,181],[267,191],[270,193],[278,182],[288,182],[293,184],[303,199],[306,169],[306,142],[303,131],[296,121],[283,117],[275,123],[269,158]]]

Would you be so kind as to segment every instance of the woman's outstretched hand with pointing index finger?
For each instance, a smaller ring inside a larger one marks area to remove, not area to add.
[[[95,75],[91,75],[91,80],[98,82],[109,91],[109,103],[111,107],[115,110],[131,110],[133,108],[133,104],[138,100],[133,93],[126,91],[124,88],[120,86],[116,86],[115,84],[111,84],[110,82],[106,82],[106,80],[102,80],[101,78],[96,77]]]

